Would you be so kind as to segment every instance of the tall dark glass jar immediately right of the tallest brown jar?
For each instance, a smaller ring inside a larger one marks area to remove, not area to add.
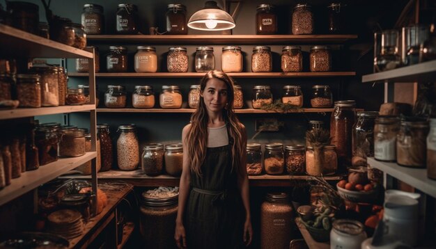
[[[359,111],[352,127],[352,166],[365,166],[366,157],[374,156],[374,124],[378,111]]]

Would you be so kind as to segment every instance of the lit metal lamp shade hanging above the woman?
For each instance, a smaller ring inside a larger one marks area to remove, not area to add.
[[[205,8],[189,18],[188,26],[202,31],[223,31],[233,29],[236,25],[231,15],[221,10],[216,1],[206,1]]]

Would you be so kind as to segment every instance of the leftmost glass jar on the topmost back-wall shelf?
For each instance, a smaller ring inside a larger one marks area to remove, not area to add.
[[[104,33],[103,6],[95,3],[85,4],[84,11],[81,13],[81,25],[88,35],[102,35]]]

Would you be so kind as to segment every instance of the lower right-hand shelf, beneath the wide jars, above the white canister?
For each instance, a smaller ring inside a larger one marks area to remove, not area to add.
[[[368,164],[436,198],[436,180],[427,177],[426,168],[407,168],[397,163],[377,161],[373,157],[368,158]]]

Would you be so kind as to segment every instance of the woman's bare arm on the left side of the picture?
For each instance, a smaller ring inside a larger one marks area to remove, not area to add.
[[[185,226],[183,225],[183,214],[185,212],[185,205],[189,195],[189,186],[191,184],[191,172],[188,165],[188,154],[186,136],[191,129],[191,124],[187,124],[182,131],[182,145],[183,145],[183,168],[182,175],[180,176],[179,194],[178,194],[178,212],[176,218],[176,232],[174,239],[178,248],[186,248],[186,233]]]

